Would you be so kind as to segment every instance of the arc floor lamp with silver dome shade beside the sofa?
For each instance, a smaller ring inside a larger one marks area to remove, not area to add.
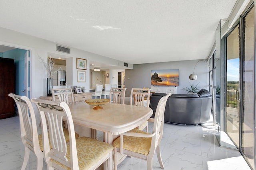
[[[211,70],[210,65],[209,65],[206,61],[204,61],[204,60],[199,60],[199,61],[196,63],[196,65],[197,65],[200,61],[203,61],[204,63],[207,64],[207,66],[209,67],[209,70],[210,70],[210,74],[211,74],[211,80],[212,80],[212,116],[213,116],[213,126],[214,126],[214,127],[211,127],[211,128],[215,129],[215,125],[216,125],[216,111],[215,111],[215,92],[214,92],[214,88],[213,88],[212,70]],[[195,67],[194,67],[194,71],[195,71],[196,65],[195,65]],[[190,79],[190,80],[196,80],[196,79],[197,79],[197,75],[194,74],[194,71],[193,71],[193,74],[190,74],[190,75],[189,75],[189,79]]]

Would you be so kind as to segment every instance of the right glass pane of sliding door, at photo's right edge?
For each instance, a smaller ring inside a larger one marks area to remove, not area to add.
[[[254,164],[254,7],[242,20],[242,153],[253,167]]]

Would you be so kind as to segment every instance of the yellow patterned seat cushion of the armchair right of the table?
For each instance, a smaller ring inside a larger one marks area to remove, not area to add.
[[[129,132],[135,132],[135,133],[147,133],[145,131],[140,131],[138,129],[132,129]],[[150,145],[151,145],[151,137],[130,137],[130,136],[124,136],[123,137],[123,149],[130,150],[132,152],[141,153],[144,155],[148,155],[150,151]],[[120,148],[120,137],[118,137],[114,143],[113,146],[116,148]]]

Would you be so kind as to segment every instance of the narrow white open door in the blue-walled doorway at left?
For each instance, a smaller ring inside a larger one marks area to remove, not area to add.
[[[25,96],[30,98],[30,86],[29,86],[29,71],[30,71],[30,57],[29,57],[29,51],[26,51],[24,55],[24,92]]]

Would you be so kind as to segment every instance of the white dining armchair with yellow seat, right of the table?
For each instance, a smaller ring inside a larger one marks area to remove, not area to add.
[[[163,136],[164,128],[164,110],[166,101],[171,94],[162,97],[157,105],[154,119],[150,118],[148,121],[154,122],[152,133],[147,133],[139,129],[133,129],[129,132],[120,134],[114,145],[114,169],[117,170],[118,152],[128,156],[140,158],[147,161],[147,169],[152,170],[152,158],[156,151],[160,167],[164,169],[162,162],[160,141]]]

